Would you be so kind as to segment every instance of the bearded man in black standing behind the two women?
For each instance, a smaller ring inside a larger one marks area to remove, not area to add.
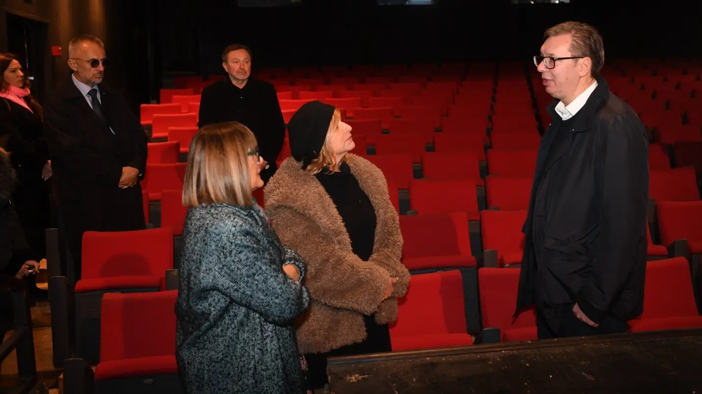
[[[251,50],[241,44],[227,46],[222,53],[227,76],[202,90],[199,127],[210,123],[237,121],[248,127],[258,141],[266,167],[263,182],[273,176],[275,160],[285,140],[285,121],[275,88],[251,76]]]

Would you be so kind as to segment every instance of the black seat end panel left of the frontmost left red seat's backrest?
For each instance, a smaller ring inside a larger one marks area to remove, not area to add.
[[[63,367],[71,357],[73,348],[73,287],[65,276],[48,278],[48,300],[51,308],[51,341],[53,344],[53,366]],[[66,391],[66,393],[69,393]]]

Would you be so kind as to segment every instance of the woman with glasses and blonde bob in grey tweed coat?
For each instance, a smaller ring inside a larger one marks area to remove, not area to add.
[[[303,392],[292,324],[310,301],[305,263],[253,201],[261,162],[239,123],[208,125],[190,145],[176,302],[176,358],[190,394]]]

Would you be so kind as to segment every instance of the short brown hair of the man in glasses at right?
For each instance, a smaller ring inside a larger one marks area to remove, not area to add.
[[[573,38],[570,48],[573,56],[590,57],[590,75],[597,78],[604,65],[604,43],[600,32],[583,22],[563,22],[546,30],[543,35],[548,39],[564,34],[570,34]]]

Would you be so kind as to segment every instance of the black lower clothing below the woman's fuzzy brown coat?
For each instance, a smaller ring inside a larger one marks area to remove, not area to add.
[[[364,323],[366,325],[366,333],[368,334],[365,341],[359,344],[343,346],[327,353],[305,355],[305,359],[307,360],[307,390],[314,391],[318,388],[324,388],[324,385],[329,381],[326,376],[326,359],[329,357],[392,351],[388,325],[376,323],[376,318],[373,315],[364,315]]]

